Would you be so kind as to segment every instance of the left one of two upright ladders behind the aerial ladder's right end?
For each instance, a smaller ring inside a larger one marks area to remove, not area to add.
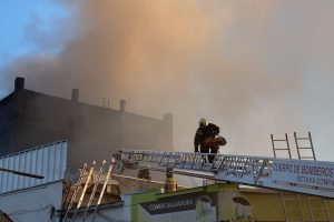
[[[272,139],[273,152],[274,152],[274,157],[275,158],[277,158],[277,153],[276,153],[277,151],[287,151],[288,159],[292,159],[287,133],[285,133],[285,139],[274,140],[274,135],[273,134],[271,134],[271,139]],[[275,147],[275,142],[285,142],[286,143],[286,148],[279,148],[278,149],[278,148]],[[286,193],[284,191],[281,191],[281,196],[282,196],[282,204],[283,204],[285,221],[286,222],[292,221],[289,219],[289,216],[288,216],[289,215],[288,214],[288,210],[287,210],[288,209],[287,208],[288,203],[297,202],[297,205],[298,205],[298,221],[304,222],[303,212],[302,212],[301,195],[299,194],[294,194],[294,193]]]

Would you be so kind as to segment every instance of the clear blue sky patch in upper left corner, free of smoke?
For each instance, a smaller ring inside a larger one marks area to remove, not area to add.
[[[1,1],[1,64],[18,56],[31,53],[35,50],[35,42],[30,41],[26,34],[26,29],[29,28],[31,22],[38,21],[40,22],[40,28],[45,29],[56,18],[67,16],[66,9],[51,0]]]

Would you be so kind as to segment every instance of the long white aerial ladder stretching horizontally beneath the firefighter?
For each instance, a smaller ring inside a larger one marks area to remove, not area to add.
[[[115,158],[121,169],[128,165],[132,169],[150,168],[160,171],[171,168],[180,174],[194,173],[216,181],[334,198],[334,162],[214,154],[214,161],[209,163],[209,155],[212,154],[119,150]],[[320,176],[321,173],[324,175]]]

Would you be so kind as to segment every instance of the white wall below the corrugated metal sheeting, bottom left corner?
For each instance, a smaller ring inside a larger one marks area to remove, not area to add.
[[[62,181],[0,194],[0,210],[14,222],[56,222],[61,210]]]

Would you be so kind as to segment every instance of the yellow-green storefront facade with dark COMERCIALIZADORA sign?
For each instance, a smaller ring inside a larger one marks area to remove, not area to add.
[[[299,194],[304,221],[312,221],[307,195]],[[195,216],[191,221],[242,222],[302,221],[297,193],[289,193],[286,212],[281,192],[263,189],[239,189],[235,184],[214,184],[203,188],[159,194],[158,191],[136,193],[131,198],[131,221],[184,221],[183,216]],[[327,221],[324,200],[310,196],[314,221]],[[204,201],[203,201],[204,200]],[[202,202],[202,203],[200,203]],[[334,200],[326,199],[330,221],[334,220]],[[184,211],[180,209],[185,208]],[[187,209],[188,208],[188,209]]]

